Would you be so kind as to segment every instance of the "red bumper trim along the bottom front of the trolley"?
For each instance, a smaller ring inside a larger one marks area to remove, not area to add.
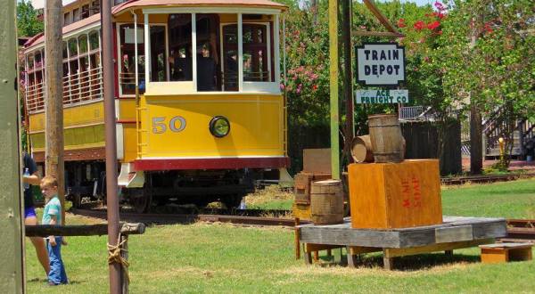
[[[137,159],[135,170],[279,168],[290,166],[288,157],[230,159]]]

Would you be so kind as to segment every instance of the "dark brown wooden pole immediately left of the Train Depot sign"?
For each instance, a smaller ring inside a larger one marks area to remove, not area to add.
[[[351,45],[351,0],[343,0],[342,4],[342,38],[343,38],[343,98],[346,102],[346,125],[345,141],[343,143],[344,156],[348,159],[347,163],[353,162],[351,157],[351,142],[355,135],[355,123],[353,114],[353,50]]]

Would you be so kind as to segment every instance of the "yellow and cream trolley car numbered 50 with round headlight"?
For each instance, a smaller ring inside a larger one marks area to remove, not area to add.
[[[285,168],[280,30],[267,0],[132,0],[112,9],[120,195],[137,211],[175,200],[235,207],[266,170]],[[68,192],[104,189],[99,1],[63,7]],[[24,48],[31,152],[45,161],[44,37]]]

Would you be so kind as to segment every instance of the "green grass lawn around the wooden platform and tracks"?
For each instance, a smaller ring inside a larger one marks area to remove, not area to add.
[[[535,181],[448,188],[442,200],[444,214],[450,216],[535,218]],[[68,222],[91,220],[70,215]],[[68,241],[62,254],[71,283],[52,288],[45,286],[27,242],[29,293],[108,291],[107,238]],[[154,226],[144,235],[131,236],[128,245],[131,293],[535,291],[535,262],[481,265],[479,249],[456,250],[453,258],[440,253],[403,257],[397,261],[402,270],[387,272],[377,255],[366,256],[357,269],[304,265],[294,259],[292,230],[284,228]]]

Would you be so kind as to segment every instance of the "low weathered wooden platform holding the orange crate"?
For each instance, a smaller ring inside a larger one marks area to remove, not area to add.
[[[348,264],[355,265],[358,254],[383,251],[384,267],[393,267],[393,258],[434,251],[469,248],[493,243],[506,236],[505,218],[444,216],[443,224],[412,228],[376,230],[351,228],[350,217],[341,225],[300,225],[300,243],[305,245],[305,261],[321,249],[348,249]],[[317,254],[316,254],[317,255]]]

